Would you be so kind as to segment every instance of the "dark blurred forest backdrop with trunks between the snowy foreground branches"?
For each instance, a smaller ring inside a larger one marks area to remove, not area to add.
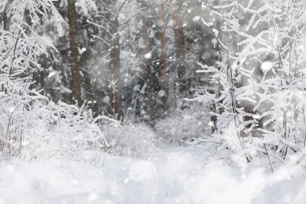
[[[95,116],[154,126],[175,109],[185,109],[183,98],[216,91],[212,74],[195,74],[197,62],[216,65],[219,58],[216,36],[201,20],[210,15],[206,4],[214,1],[67,2],[54,2],[48,22],[31,21],[24,10],[29,28],[56,47],[37,56],[40,68],[24,74],[32,74],[32,88],[53,101],[85,103]],[[5,30],[14,23],[8,7],[10,1],[0,13]]]

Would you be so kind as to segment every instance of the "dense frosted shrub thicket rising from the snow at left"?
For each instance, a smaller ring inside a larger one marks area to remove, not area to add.
[[[9,84],[9,85],[8,85]],[[24,161],[49,157],[75,159],[90,147],[108,145],[90,112],[55,104],[30,90],[30,79],[9,80],[0,75],[0,151]]]

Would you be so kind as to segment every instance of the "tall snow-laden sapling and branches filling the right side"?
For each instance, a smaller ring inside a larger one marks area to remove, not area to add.
[[[305,4],[223,3],[210,7],[224,25],[215,33],[223,48],[218,67],[200,65],[198,71],[213,73],[220,92],[187,99],[215,104],[217,129],[212,138],[194,138],[191,144],[217,161],[265,158],[271,169],[285,159],[301,164],[306,141]]]

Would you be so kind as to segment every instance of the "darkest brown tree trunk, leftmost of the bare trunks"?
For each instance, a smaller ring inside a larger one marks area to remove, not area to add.
[[[69,20],[69,40],[70,40],[70,60],[71,60],[71,87],[72,96],[82,106],[81,84],[80,84],[80,65],[77,37],[77,12],[75,11],[75,1],[68,0],[68,20]]]

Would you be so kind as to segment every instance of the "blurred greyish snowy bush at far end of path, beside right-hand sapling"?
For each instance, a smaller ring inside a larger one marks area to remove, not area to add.
[[[177,108],[155,123],[155,130],[162,145],[182,145],[190,137],[211,134],[206,105],[189,104]]]

